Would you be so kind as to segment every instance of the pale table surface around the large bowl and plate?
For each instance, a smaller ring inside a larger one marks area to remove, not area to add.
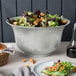
[[[62,61],[70,61],[76,64],[76,58],[69,58],[66,56],[66,47],[68,44],[69,42],[62,42],[60,47],[48,57],[34,58],[36,60],[35,64],[43,61],[48,61],[48,60],[53,61],[58,59],[61,59]],[[22,59],[29,59],[29,58],[23,55],[23,53],[18,49],[16,43],[5,43],[5,45],[12,46],[16,52],[14,55],[10,55],[8,64],[0,67],[0,72],[7,75],[18,67],[24,65],[31,65],[33,67],[35,65],[35,64],[31,64],[29,61],[22,62]]]

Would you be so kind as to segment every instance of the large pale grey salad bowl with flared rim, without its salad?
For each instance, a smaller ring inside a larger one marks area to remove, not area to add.
[[[18,17],[13,17],[15,19]],[[67,23],[56,27],[22,27],[15,26],[6,21],[14,31],[15,41],[20,50],[27,56],[48,56],[61,43],[62,32]]]

